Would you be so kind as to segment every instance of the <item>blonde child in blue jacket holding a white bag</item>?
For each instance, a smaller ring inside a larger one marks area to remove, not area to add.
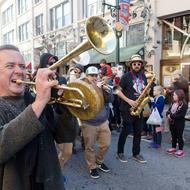
[[[153,96],[154,99],[151,101],[151,109],[157,108],[160,117],[163,118],[163,110],[164,110],[164,88],[162,86],[155,86],[153,88]],[[152,125],[153,130],[153,141],[150,143],[151,148],[160,148],[162,141],[162,125]]]

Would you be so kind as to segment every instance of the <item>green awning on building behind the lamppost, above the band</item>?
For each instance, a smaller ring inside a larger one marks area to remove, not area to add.
[[[139,51],[143,50],[143,48],[144,44],[120,48],[120,62],[126,62],[133,54],[137,54]],[[99,63],[101,59],[106,59],[108,63],[114,63],[116,60],[116,50],[109,55],[103,55],[94,49],[88,52],[90,54],[89,64]]]

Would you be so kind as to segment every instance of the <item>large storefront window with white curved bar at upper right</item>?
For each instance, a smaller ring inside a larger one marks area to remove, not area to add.
[[[190,15],[166,19],[171,26],[163,25],[163,59],[190,55]],[[185,43],[185,46],[184,46]],[[184,46],[184,47],[183,47]],[[184,51],[182,51],[184,50]]]

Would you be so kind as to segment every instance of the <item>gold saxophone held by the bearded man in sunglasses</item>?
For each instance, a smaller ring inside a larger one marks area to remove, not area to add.
[[[155,80],[155,74],[152,75],[150,81],[142,91],[141,95],[136,100],[137,105],[130,108],[130,114],[132,116],[139,116],[145,105],[150,101],[149,90],[154,80]]]

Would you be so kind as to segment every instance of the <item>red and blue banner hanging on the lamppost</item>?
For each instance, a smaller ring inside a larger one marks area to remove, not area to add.
[[[119,20],[123,25],[123,30],[127,31],[129,29],[129,7],[130,0],[119,0]]]

